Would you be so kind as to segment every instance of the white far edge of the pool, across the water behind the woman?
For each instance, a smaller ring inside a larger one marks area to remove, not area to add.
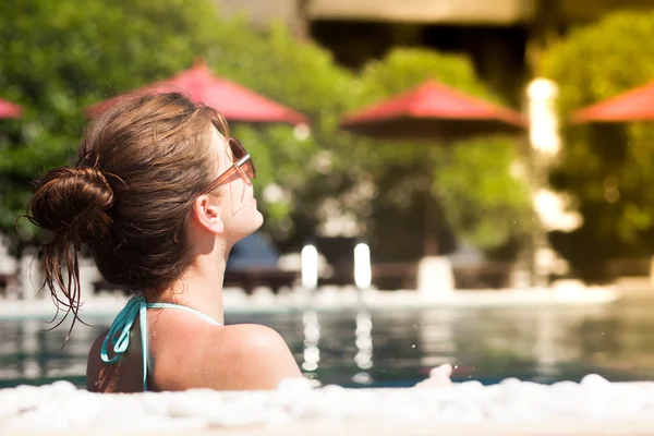
[[[363,295],[363,296],[362,296]],[[288,314],[314,312],[342,312],[359,310],[424,310],[424,308],[485,308],[514,306],[601,306],[620,299],[611,287],[557,290],[538,288],[530,290],[459,290],[440,295],[425,295],[413,290],[318,292],[308,295],[291,292],[274,295],[259,292],[245,295],[240,291],[225,292],[227,314]],[[126,296],[118,294],[97,296],[83,303],[82,315],[113,316],[123,307]],[[0,319],[51,318],[56,308],[50,299],[0,300]]]

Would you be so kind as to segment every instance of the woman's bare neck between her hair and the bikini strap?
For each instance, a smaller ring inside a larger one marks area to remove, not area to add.
[[[213,250],[206,254],[197,254],[193,264],[150,302],[167,302],[194,308],[225,324],[222,304],[222,281],[229,250]]]

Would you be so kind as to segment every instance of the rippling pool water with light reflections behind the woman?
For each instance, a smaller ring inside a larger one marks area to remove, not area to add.
[[[429,368],[456,365],[456,380],[552,383],[597,373],[611,380],[654,378],[652,302],[606,307],[342,311],[227,315],[277,329],[307,377],[341,386],[411,386]],[[0,387],[57,378],[84,385],[86,354],[110,318],[64,326],[0,320]]]

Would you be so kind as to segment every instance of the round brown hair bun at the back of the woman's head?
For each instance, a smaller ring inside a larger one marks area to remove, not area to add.
[[[101,240],[109,234],[113,191],[98,168],[60,167],[39,182],[29,202],[29,220],[78,242]]]

